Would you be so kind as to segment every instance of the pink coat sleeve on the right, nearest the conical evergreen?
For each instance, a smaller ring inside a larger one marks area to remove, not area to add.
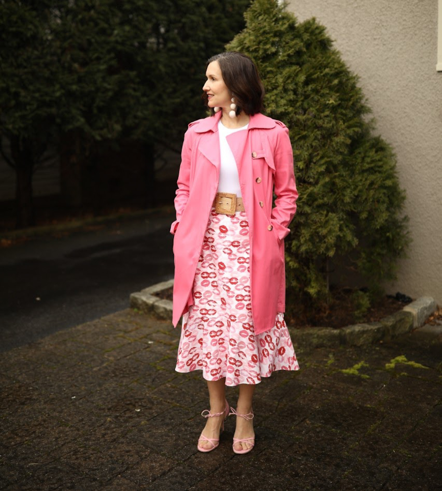
[[[288,129],[282,123],[279,124],[282,128],[278,127],[274,150],[276,200],[275,207],[272,209],[271,223],[281,241],[290,232],[288,225],[296,213],[298,191],[296,190],[293,150]]]

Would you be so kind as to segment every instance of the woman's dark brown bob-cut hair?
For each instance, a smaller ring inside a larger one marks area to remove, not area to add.
[[[259,78],[258,69],[249,56],[235,51],[226,51],[212,56],[207,60],[206,69],[212,61],[218,61],[222,79],[235,98],[236,114],[244,111],[253,116],[264,110],[264,85]],[[207,106],[206,92],[202,98]],[[211,115],[215,114],[213,108],[209,108]]]

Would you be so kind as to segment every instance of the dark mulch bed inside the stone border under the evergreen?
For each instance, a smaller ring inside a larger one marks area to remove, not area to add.
[[[173,287],[167,288],[155,294],[165,300],[172,300]],[[345,327],[356,323],[367,323],[381,320],[387,315],[394,314],[401,310],[409,301],[399,301],[391,297],[382,297],[370,306],[365,316],[359,320],[355,319],[354,306],[352,301],[351,289],[336,289],[332,293],[332,300],[328,305],[324,305],[321,310],[314,314],[293,316],[285,314],[288,325],[293,327]]]

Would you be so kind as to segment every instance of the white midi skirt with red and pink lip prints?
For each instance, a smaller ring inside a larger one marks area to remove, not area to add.
[[[183,315],[177,372],[202,370],[225,385],[259,383],[276,370],[299,370],[282,312],[275,327],[254,334],[250,301],[249,223],[246,212],[212,208],[193,280],[193,301]]]

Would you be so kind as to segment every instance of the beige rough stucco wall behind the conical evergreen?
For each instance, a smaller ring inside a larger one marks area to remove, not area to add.
[[[442,305],[442,72],[436,71],[436,0],[292,0],[316,17],[360,86],[377,133],[394,148],[413,244],[387,291]]]

